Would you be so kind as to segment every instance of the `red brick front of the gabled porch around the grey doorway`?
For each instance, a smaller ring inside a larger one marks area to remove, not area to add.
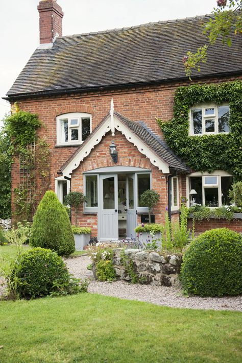
[[[118,162],[114,164],[109,154],[109,145],[114,140],[118,151]],[[161,198],[154,207],[156,223],[164,223],[164,212],[167,205],[166,176],[163,175],[157,167],[151,164],[146,156],[142,155],[137,148],[130,143],[120,132],[115,132],[115,136],[111,136],[111,132],[106,134],[102,141],[91,151],[79,167],[72,173],[71,190],[83,191],[83,172],[98,167],[107,166],[135,166],[147,168],[152,171],[152,188],[160,193]],[[97,215],[82,214],[83,209],[80,208],[78,213],[78,224],[92,228],[92,235],[98,234],[98,217]],[[138,216],[140,223],[140,216]]]

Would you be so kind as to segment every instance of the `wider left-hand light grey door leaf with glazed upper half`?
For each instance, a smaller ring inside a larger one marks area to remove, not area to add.
[[[117,174],[100,176],[99,239],[118,239]]]

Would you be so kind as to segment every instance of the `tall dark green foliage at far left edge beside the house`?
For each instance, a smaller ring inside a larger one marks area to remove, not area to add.
[[[0,219],[11,217],[11,165],[13,148],[11,139],[3,129],[0,132]]]

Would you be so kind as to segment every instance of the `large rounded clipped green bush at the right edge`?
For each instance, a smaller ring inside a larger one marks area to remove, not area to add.
[[[190,294],[239,295],[242,237],[227,228],[211,229],[191,242],[184,255],[181,281]]]

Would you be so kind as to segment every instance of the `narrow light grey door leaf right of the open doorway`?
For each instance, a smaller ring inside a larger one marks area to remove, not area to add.
[[[127,195],[127,238],[135,237],[134,229],[136,227],[136,211],[135,211],[135,175],[128,174],[126,176],[126,195]]]

